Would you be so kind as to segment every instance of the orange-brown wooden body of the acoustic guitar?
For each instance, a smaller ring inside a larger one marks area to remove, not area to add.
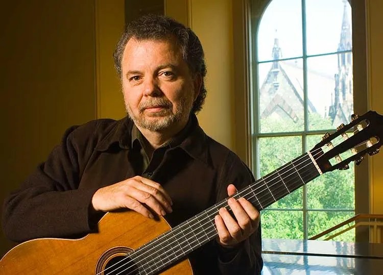
[[[104,271],[108,262],[168,230],[162,217],[155,221],[134,211],[107,213],[98,233],[76,240],[36,239],[15,246],[0,261],[0,274],[117,274],[109,272],[112,268]],[[133,269],[121,274],[139,274]],[[186,259],[159,274],[192,275],[193,271]]]

